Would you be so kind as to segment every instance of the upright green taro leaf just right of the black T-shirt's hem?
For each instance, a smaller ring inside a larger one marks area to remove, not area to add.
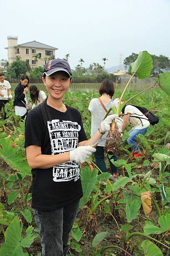
[[[82,209],[82,207],[85,206],[85,204],[88,201],[88,198],[91,194],[91,191],[94,188],[94,185],[97,181],[97,169],[94,169],[93,172],[90,172],[90,168],[88,166],[85,166],[81,170],[81,181],[82,181],[82,191],[83,191],[83,197],[80,199],[79,208]]]

